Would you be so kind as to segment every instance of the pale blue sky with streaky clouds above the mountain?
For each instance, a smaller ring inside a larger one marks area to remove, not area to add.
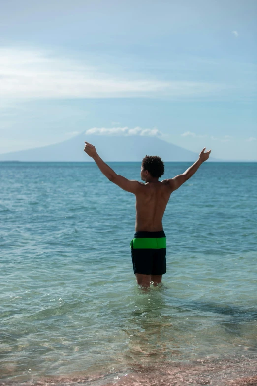
[[[257,161],[256,0],[0,2],[0,153],[129,132]]]

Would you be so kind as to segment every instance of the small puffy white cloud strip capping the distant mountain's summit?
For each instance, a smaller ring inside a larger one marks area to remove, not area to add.
[[[157,136],[161,137],[163,133],[157,128],[154,129],[142,129],[137,126],[133,129],[129,129],[127,126],[125,127],[93,127],[88,129],[85,134],[97,134],[97,135],[122,135],[122,136],[132,136],[132,135],[140,135],[140,136]]]

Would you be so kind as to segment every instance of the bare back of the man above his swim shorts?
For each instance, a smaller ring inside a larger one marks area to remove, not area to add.
[[[162,217],[172,192],[170,185],[166,180],[139,183],[142,188],[136,194],[135,231],[161,231]]]

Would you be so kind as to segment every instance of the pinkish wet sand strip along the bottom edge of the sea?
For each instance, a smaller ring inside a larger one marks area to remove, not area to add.
[[[134,365],[128,374],[70,375],[29,381],[0,381],[0,386],[257,386],[257,354],[233,358]]]

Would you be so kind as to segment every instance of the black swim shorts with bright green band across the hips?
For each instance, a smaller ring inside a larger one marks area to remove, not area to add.
[[[166,235],[164,231],[134,234],[130,242],[134,274],[166,273]]]

